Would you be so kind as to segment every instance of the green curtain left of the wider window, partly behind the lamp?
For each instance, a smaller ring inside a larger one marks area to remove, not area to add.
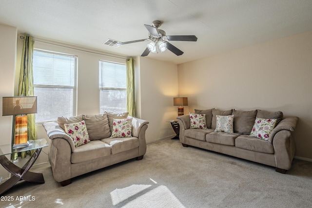
[[[20,82],[18,96],[34,96],[34,83],[33,83],[33,52],[34,40],[31,36],[25,35],[23,51],[20,61]],[[35,114],[27,114],[27,140],[36,139],[36,121]],[[13,144],[15,143],[13,136]],[[31,152],[21,152],[21,157],[26,157],[26,154]],[[14,160],[18,157],[14,154]]]

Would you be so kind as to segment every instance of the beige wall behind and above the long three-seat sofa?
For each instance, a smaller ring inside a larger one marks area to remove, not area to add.
[[[194,109],[264,109],[298,116],[296,157],[312,160],[312,31],[178,65]]]

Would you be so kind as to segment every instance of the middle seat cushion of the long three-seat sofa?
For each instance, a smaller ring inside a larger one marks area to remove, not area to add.
[[[225,132],[211,132],[206,134],[206,141],[222,145],[235,145],[235,138],[241,134],[239,133],[225,133]]]

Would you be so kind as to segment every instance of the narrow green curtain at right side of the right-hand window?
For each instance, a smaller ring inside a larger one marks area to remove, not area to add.
[[[127,112],[130,116],[136,115],[135,100],[135,67],[133,58],[129,58],[127,63]]]

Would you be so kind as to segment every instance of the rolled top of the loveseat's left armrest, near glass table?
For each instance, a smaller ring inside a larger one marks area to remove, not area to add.
[[[53,140],[56,138],[62,138],[65,139],[71,148],[71,151],[73,152],[75,150],[75,144],[74,141],[72,140],[72,138],[67,135],[64,130],[62,130],[59,127],[59,124],[57,122],[46,122],[42,125],[45,129],[45,131],[47,132],[49,139]]]

